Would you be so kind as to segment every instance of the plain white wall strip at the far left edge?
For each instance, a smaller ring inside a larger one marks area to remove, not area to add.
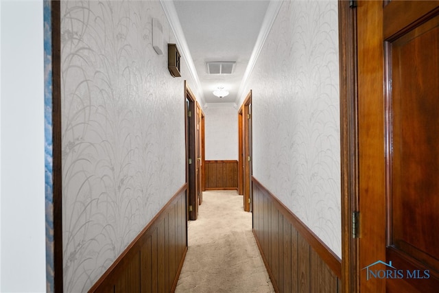
[[[43,1],[0,5],[0,291],[45,292]]]

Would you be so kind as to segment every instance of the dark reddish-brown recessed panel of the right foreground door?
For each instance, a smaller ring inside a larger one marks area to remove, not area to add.
[[[436,17],[392,42],[390,244],[431,265],[439,260],[438,36]]]

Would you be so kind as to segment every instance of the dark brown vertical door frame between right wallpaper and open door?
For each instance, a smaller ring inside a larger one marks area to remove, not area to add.
[[[359,288],[358,241],[352,237],[352,213],[358,211],[357,8],[338,1],[340,48],[340,159],[342,188],[342,291]]]

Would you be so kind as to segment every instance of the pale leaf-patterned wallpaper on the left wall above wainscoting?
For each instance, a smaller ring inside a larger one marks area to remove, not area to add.
[[[184,80],[158,1],[61,1],[64,291],[86,292],[185,183]],[[189,80],[189,84],[193,84]]]

